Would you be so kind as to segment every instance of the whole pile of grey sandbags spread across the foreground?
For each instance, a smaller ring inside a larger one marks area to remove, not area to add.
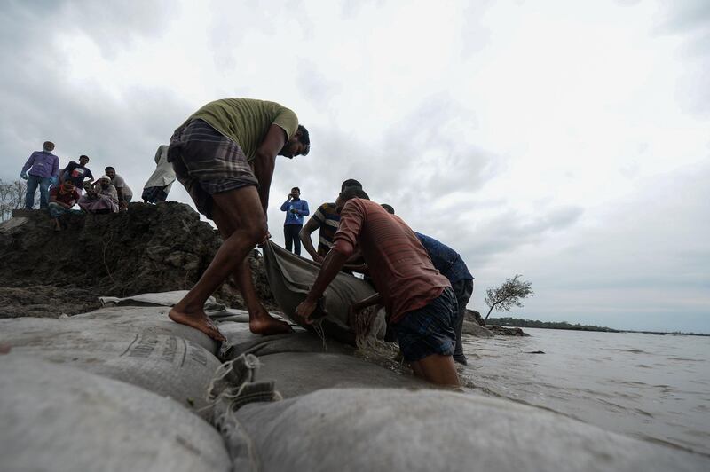
[[[155,304],[171,303],[170,296],[147,299],[140,303],[148,306],[107,307],[71,319],[0,320],[0,344],[12,346],[0,355],[0,469],[653,471],[710,465],[704,456],[539,408],[429,389],[303,330],[257,336],[243,311],[212,312],[229,340],[228,362],[221,365],[215,342],[172,323],[170,308]],[[247,353],[257,358],[247,362]],[[233,366],[241,371],[234,374]],[[263,401],[272,399],[273,382],[284,399]]]

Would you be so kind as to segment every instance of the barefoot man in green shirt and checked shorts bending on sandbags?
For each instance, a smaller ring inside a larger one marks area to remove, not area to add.
[[[310,143],[294,112],[249,98],[210,102],[175,130],[168,161],[200,213],[217,224],[224,242],[193,289],[170,310],[170,319],[224,341],[203,307],[233,275],[247,303],[252,333],[291,331],[259,302],[247,256],[269,237],[266,209],[277,154],[289,159],[306,155]]]

